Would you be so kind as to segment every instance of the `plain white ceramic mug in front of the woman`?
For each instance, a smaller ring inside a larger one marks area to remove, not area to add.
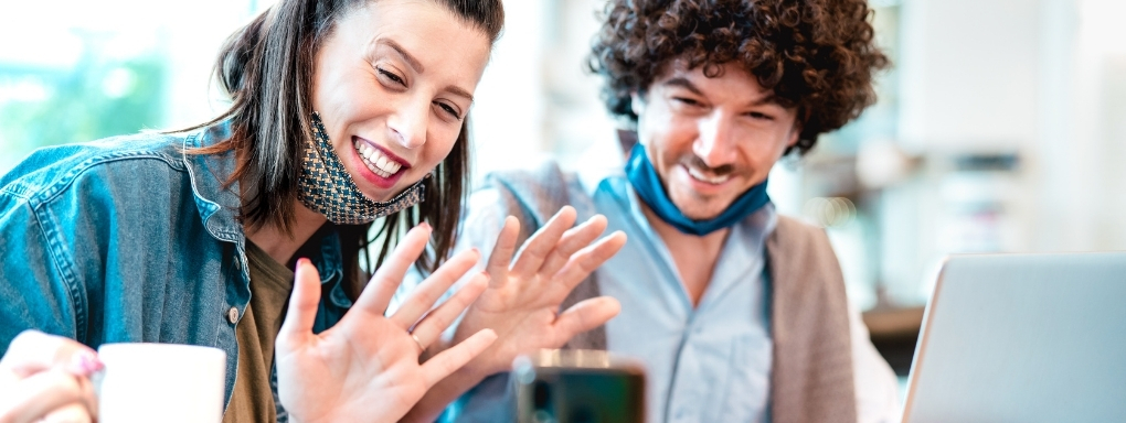
[[[113,343],[98,348],[101,423],[221,423],[226,353],[209,346]]]

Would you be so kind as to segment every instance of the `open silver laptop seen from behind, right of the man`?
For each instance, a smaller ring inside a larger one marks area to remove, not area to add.
[[[903,421],[1126,422],[1126,252],[948,259]]]

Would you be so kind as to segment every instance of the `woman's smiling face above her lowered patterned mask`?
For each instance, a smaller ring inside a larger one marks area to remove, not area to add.
[[[313,110],[368,198],[386,201],[449,154],[489,38],[434,1],[369,1],[316,53]]]

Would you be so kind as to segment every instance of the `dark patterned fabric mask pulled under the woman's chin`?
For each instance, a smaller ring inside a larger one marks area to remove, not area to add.
[[[324,124],[316,112],[313,112],[312,124],[313,140],[306,141],[298,181],[298,196],[305,207],[324,215],[334,224],[358,225],[372,223],[422,201],[422,182],[426,178],[390,201],[379,202],[367,198],[332,151],[332,143],[329,142]]]

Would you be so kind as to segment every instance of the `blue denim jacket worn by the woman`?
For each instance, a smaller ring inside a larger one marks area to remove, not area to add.
[[[221,124],[48,147],[0,178],[0,352],[26,328],[95,349],[215,346],[226,352],[230,400],[234,326],[250,303],[239,184],[224,187],[236,163],[184,153],[229,136]],[[351,306],[334,233],[320,250],[310,259],[328,295],[314,332]]]

